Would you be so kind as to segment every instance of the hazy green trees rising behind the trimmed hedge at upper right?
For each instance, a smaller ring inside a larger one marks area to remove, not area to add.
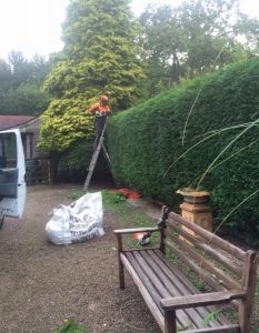
[[[239,0],[186,0],[177,8],[149,7],[140,26],[149,94],[258,50],[258,21],[239,11]]]

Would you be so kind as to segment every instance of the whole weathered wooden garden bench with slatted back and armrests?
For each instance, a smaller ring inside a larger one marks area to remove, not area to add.
[[[141,231],[160,232],[159,246],[124,250],[122,235]],[[114,234],[120,287],[124,289],[126,269],[162,332],[250,332],[255,251],[243,251],[166,206],[158,228],[114,230]],[[206,292],[195,280],[206,285]],[[237,323],[223,315],[226,303],[235,309]]]

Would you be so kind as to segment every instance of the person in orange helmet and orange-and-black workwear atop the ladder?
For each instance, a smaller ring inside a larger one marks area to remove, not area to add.
[[[111,114],[111,110],[108,103],[109,99],[107,95],[103,94],[101,95],[99,103],[94,103],[89,108],[90,113],[96,115],[96,139],[93,143],[93,149],[96,149],[98,145],[103,127],[106,124],[107,117]]]

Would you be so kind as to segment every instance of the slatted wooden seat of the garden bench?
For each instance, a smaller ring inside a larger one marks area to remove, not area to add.
[[[121,258],[123,256],[139,275],[139,279],[151,295],[152,301],[161,314],[162,309],[160,306],[160,300],[162,297],[168,295],[176,296],[200,293],[190,282],[188,282],[187,278],[178,268],[168,265],[167,259],[162,258],[161,251],[159,250],[127,251],[121,254]],[[161,271],[165,274],[160,274],[159,272]],[[212,306],[199,306],[197,309],[177,310],[178,322],[185,327],[192,327],[193,330],[202,329],[205,327],[202,320],[211,312],[211,309]],[[215,310],[216,306],[213,306],[213,311]],[[222,315],[219,317],[220,319],[217,321],[212,321],[210,326],[219,327],[225,323],[229,323]]]

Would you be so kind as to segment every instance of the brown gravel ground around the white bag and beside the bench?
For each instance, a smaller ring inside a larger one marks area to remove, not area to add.
[[[73,188],[74,190],[74,188]],[[68,204],[71,186],[30,186],[21,221],[0,231],[0,333],[49,333],[73,319],[90,333],[160,332],[127,279],[118,286],[116,213],[104,212],[106,235],[68,246],[50,244],[48,213]]]

